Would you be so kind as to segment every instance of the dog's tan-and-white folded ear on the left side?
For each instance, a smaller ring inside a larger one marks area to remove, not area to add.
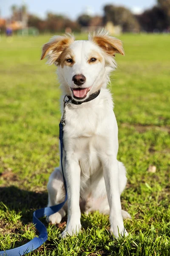
[[[41,60],[45,57],[48,58],[48,64],[57,64],[57,60],[61,53],[74,42],[74,37],[72,35],[54,36],[51,40],[44,44],[42,47]]]

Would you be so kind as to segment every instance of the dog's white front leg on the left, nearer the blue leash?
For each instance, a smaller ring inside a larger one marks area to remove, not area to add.
[[[66,157],[65,160],[65,180],[68,193],[68,221],[61,236],[74,235],[81,229],[80,223],[80,166],[79,161],[74,157]]]

